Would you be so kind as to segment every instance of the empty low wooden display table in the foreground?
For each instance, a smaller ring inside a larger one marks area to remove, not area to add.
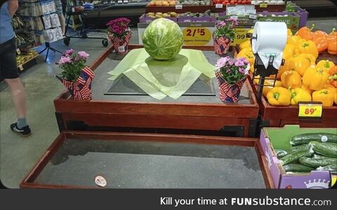
[[[237,176],[239,175],[239,176]],[[20,188],[274,188],[258,138],[61,132]]]

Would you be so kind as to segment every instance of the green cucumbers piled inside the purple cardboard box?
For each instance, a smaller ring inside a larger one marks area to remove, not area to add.
[[[275,150],[286,172],[337,171],[337,135],[303,133],[293,136],[289,150]]]

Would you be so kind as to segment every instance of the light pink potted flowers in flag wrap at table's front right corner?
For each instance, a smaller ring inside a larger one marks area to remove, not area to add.
[[[246,58],[236,60],[226,56],[216,63],[216,78],[219,84],[220,100],[236,103],[239,100],[241,88],[249,74],[249,61]]]

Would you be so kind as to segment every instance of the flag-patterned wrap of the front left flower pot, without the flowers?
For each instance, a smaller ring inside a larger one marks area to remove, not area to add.
[[[92,99],[91,82],[93,81],[95,74],[90,68],[84,67],[76,81],[62,79],[57,75],[55,75],[55,77],[65,85],[74,100]]]

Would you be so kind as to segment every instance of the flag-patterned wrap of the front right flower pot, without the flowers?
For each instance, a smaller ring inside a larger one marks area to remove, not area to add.
[[[244,85],[247,77],[244,77],[241,81],[236,84],[228,84],[220,72],[216,73],[216,79],[218,80],[220,100],[226,103],[237,103],[239,100],[241,88]]]

